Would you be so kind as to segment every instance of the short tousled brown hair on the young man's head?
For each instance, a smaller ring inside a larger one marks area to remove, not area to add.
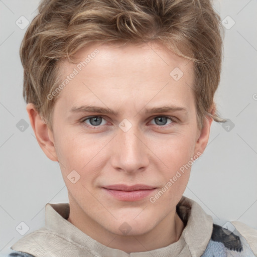
[[[214,93],[220,81],[222,25],[210,0],[43,0],[21,44],[23,96],[52,130],[60,83],[58,63],[91,43],[156,41],[175,54],[194,61],[192,85],[197,124],[206,115],[217,122]],[[224,33],[224,32],[223,32]]]

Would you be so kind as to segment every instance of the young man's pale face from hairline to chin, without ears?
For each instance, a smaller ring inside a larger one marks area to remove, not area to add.
[[[199,156],[193,63],[156,43],[77,57],[60,65],[52,123],[70,206],[114,234],[147,233],[175,213]]]

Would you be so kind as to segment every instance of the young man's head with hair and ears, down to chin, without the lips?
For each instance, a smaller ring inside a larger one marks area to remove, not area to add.
[[[71,208],[115,234],[122,224],[146,233],[175,212],[212,120],[224,121],[209,0],[43,1],[21,59],[33,130]],[[153,190],[121,200],[106,190],[114,184]]]

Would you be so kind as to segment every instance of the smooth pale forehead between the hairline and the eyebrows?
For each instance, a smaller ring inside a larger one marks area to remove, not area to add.
[[[166,98],[177,105],[187,98],[190,104],[193,62],[158,43],[95,44],[81,48],[76,58],[75,64],[62,62],[60,72],[64,81],[75,71],[61,94],[77,105],[89,96],[100,103],[100,99],[149,101],[154,95],[155,100]]]

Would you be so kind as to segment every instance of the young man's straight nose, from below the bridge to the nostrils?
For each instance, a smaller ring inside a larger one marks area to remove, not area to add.
[[[151,153],[145,141],[143,133],[135,124],[126,132],[118,128],[111,146],[112,167],[127,173],[144,171],[149,165]]]

